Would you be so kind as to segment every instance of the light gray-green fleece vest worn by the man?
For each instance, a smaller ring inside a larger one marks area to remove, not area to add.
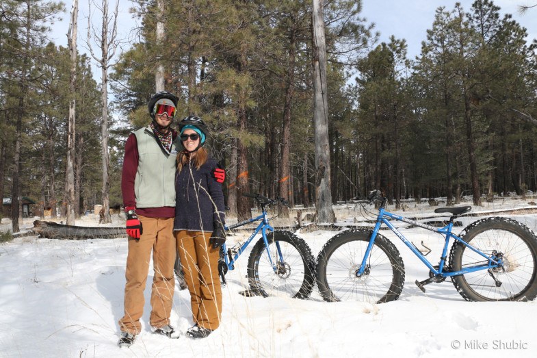
[[[138,144],[138,170],[134,179],[136,207],[175,206],[176,143],[168,155],[161,149],[151,127],[134,132]]]

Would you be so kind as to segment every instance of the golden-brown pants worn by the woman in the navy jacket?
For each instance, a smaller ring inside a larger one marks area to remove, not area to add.
[[[174,235],[190,292],[194,323],[206,329],[217,329],[222,314],[219,249],[209,246],[211,233],[175,231]]]

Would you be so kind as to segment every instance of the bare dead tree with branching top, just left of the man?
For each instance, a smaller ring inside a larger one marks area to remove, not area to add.
[[[112,59],[116,56],[116,50],[120,44],[120,41],[116,39],[118,34],[118,5],[119,0],[116,0],[114,7],[114,14],[109,16],[108,13],[108,0],[102,0],[101,8],[95,5],[96,8],[103,14],[103,22],[101,27],[101,34],[94,31],[91,24],[91,3],[90,1],[90,15],[88,16],[88,49],[93,59],[97,62],[97,65],[101,67],[101,101],[103,103],[103,112],[101,114],[101,153],[103,157],[103,213],[104,222],[112,222],[110,217],[110,202],[109,202],[109,153],[108,153],[108,69],[115,66],[117,62],[112,62]],[[93,33],[93,34],[92,34]],[[98,57],[94,54],[91,46],[91,38],[94,36],[94,41],[101,46],[101,55]]]

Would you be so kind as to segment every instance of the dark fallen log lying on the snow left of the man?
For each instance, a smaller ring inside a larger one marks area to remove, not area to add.
[[[42,220],[34,221],[34,228],[31,231],[41,238],[66,240],[113,239],[127,236],[125,227],[79,227]]]

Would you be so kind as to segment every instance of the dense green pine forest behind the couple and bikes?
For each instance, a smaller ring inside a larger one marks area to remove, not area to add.
[[[166,90],[180,98],[176,120],[196,114],[209,125],[209,151],[227,171],[229,216],[248,216],[237,205],[243,192],[313,205],[321,173],[314,166],[311,1],[133,5],[141,25],[118,62],[105,63],[113,101],[103,120],[108,85],[94,78],[92,58],[78,54],[70,90],[69,49],[47,37],[65,5],[0,3],[0,197],[27,197],[40,216],[47,209],[66,215],[75,99],[75,214],[103,203],[105,192],[120,207],[125,140],[149,123],[146,103],[162,66]],[[93,6],[101,15],[108,8],[105,0]],[[109,34],[111,8],[103,22]],[[157,40],[162,22],[165,38]],[[324,26],[334,203],[374,188],[396,207],[408,198],[445,196],[454,205],[471,194],[480,205],[536,191],[537,42],[493,1],[438,8],[415,59],[403,38],[377,43],[361,1],[324,1]],[[93,29],[93,38],[103,38],[103,29]]]

